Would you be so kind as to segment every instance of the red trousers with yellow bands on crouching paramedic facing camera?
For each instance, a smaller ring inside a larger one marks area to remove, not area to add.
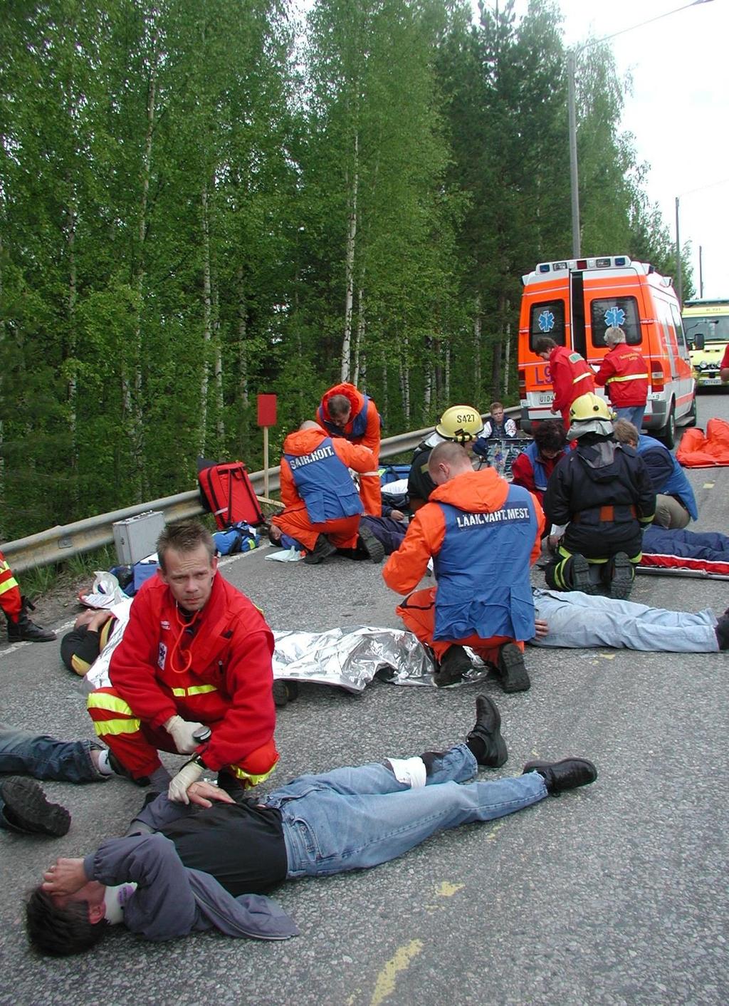
[[[162,763],[158,750],[179,753],[167,730],[138,719],[114,688],[97,688],[88,696],[87,706],[99,739],[107,744],[134,779],[151,776],[160,768]],[[214,730],[216,724],[207,725]],[[221,771],[233,776],[243,786],[257,786],[271,774],[278,761],[279,752],[271,737],[235,765],[223,766]]]

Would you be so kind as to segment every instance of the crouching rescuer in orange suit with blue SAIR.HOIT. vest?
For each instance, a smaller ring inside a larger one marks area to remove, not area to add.
[[[270,522],[304,545],[305,562],[317,564],[338,548],[357,547],[363,506],[350,468],[372,472],[377,462],[368,448],[333,439],[311,420],[284,441],[281,498],[286,509]]]

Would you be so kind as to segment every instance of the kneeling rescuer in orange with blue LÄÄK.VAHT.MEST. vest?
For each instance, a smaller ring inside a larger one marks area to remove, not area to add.
[[[524,641],[534,635],[529,567],[541,551],[542,508],[493,468],[475,472],[460,444],[434,447],[428,470],[436,488],[382,575],[392,591],[408,594],[432,557],[437,586],[410,594],[397,614],[432,650],[436,685],[454,684],[471,669],[468,646],[494,664],[504,691],[525,691]]]

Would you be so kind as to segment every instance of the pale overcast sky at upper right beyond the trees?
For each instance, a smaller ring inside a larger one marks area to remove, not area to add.
[[[622,126],[651,165],[647,191],[674,239],[679,197],[681,243],[692,244],[697,295],[701,245],[704,297],[729,298],[729,0],[685,10],[677,10],[681,0],[558,2],[568,45],[677,11],[610,41],[618,71],[632,75]],[[517,0],[518,13],[526,8],[527,0]]]

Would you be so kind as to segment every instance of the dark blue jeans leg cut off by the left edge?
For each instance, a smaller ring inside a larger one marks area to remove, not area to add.
[[[106,777],[97,772],[90,756],[93,747],[101,746],[96,740],[55,740],[0,723],[0,772],[64,783],[102,782]],[[4,827],[4,806],[0,790],[0,828]]]

